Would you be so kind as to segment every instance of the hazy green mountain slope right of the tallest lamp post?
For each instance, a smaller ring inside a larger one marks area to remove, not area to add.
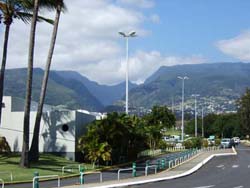
[[[151,107],[155,104],[171,105],[181,100],[182,81],[178,76],[188,76],[185,81],[185,99],[192,94],[204,98],[222,97],[237,99],[250,87],[250,64],[211,63],[161,67],[145,83],[130,91],[130,103],[134,106]]]

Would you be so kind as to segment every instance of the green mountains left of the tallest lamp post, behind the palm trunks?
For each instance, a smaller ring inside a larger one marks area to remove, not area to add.
[[[39,100],[43,73],[40,68],[33,70],[33,101]],[[25,98],[26,75],[25,68],[6,70],[4,95]],[[129,83],[129,88],[136,86]],[[114,86],[101,85],[75,71],[51,71],[45,103],[69,109],[102,111],[105,106],[121,100],[124,93],[125,82]]]

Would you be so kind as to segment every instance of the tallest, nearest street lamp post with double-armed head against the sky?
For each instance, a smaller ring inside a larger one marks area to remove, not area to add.
[[[136,32],[131,31],[129,33],[118,32],[121,36],[126,39],[126,114],[128,114],[128,38],[129,37],[136,37]]]

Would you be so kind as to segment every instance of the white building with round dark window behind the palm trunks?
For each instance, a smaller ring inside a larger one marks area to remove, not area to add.
[[[13,152],[21,152],[23,140],[24,101],[14,97],[4,97],[0,135],[4,136]],[[30,113],[30,144],[36,117],[36,104],[32,103]],[[77,152],[77,141],[86,131],[86,124],[96,116],[86,111],[53,110],[45,106],[40,124],[39,151],[63,155],[70,160],[82,160]]]

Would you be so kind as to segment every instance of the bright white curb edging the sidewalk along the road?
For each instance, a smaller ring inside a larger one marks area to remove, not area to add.
[[[171,180],[171,179],[176,179],[176,178],[188,176],[188,175],[196,172],[198,169],[200,169],[203,165],[205,165],[208,161],[210,161],[214,157],[237,155],[237,152],[236,152],[234,147],[232,148],[232,150],[233,150],[233,153],[212,154],[209,157],[207,157],[206,159],[204,159],[202,162],[198,163],[196,166],[191,168],[190,170],[188,170],[184,173],[178,174],[178,175],[174,175],[174,176],[170,176],[170,177],[162,177],[162,178],[153,178],[153,179],[141,180],[141,181],[134,181],[134,182],[115,183],[115,184],[111,184],[111,185],[95,186],[92,188],[113,188],[113,187],[123,187],[123,186],[131,186],[131,185],[140,185],[140,184],[145,184],[145,183],[165,181],[165,180]]]

